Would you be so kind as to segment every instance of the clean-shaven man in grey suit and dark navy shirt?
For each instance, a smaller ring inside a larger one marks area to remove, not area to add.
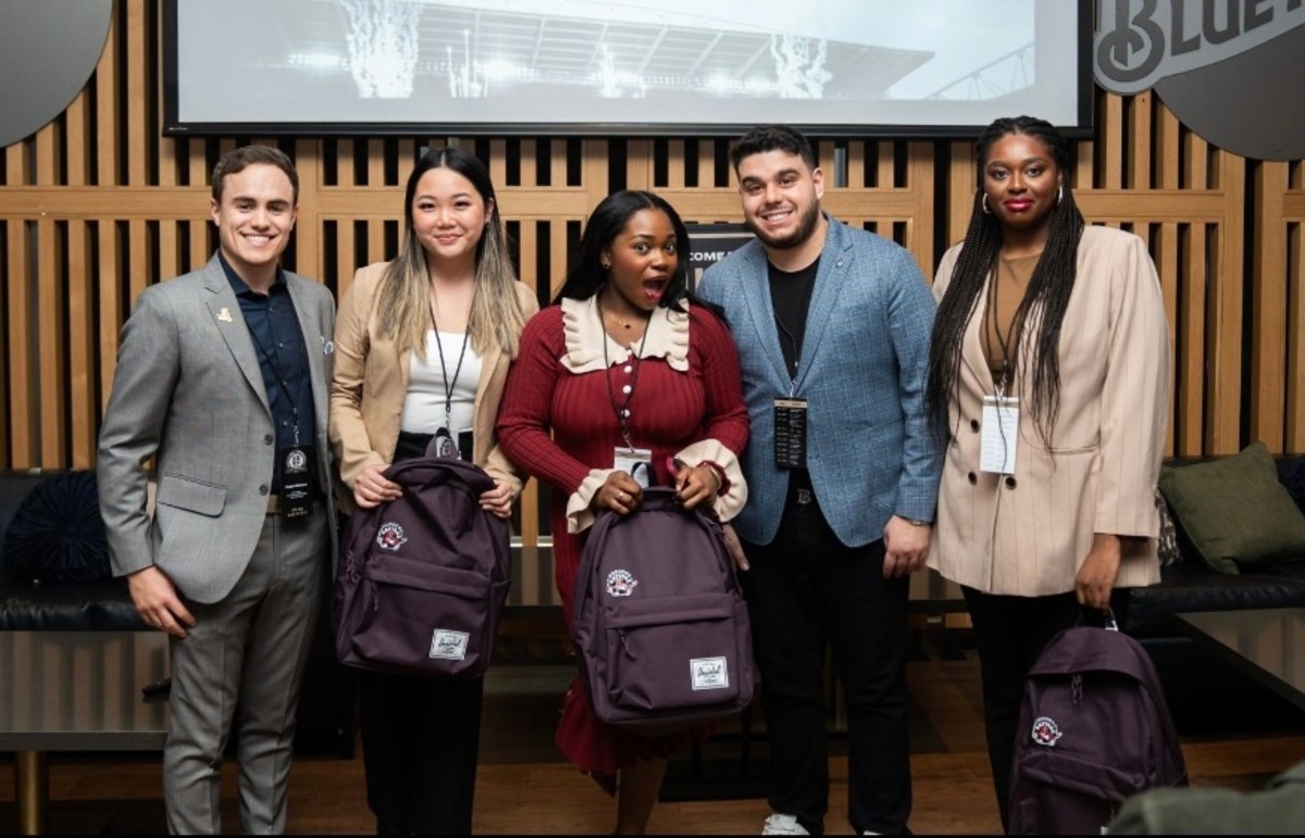
[[[299,178],[270,146],[213,171],[219,249],[146,288],[99,436],[114,573],[171,634],[163,792],[172,833],[221,833],[238,730],[245,833],[282,833],[299,681],[330,569],[326,406],[335,304],[279,268]],[[144,465],[154,459],[147,505]]]

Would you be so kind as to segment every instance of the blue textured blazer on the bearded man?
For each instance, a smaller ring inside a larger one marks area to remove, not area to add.
[[[893,514],[932,521],[937,504],[941,452],[924,403],[933,296],[904,248],[827,218],[796,381],[760,241],[710,268],[698,287],[724,307],[739,345],[752,436],[748,505],[733,523],[757,544],[774,540],[783,517],[790,473],[775,467],[774,403],[790,394],[809,402],[806,466],[844,544],[883,538]]]

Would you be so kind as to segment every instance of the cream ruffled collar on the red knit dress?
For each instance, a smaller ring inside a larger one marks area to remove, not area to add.
[[[603,342],[607,342],[607,360],[612,364],[625,363],[630,356],[664,358],[671,369],[689,369],[689,303],[683,300],[683,312],[671,308],[656,308],[649,318],[647,339],[639,345],[621,346],[603,328],[598,311],[598,295],[587,300],[562,300],[562,332],[566,335],[566,355],[562,365],[570,372],[594,372],[604,369]]]

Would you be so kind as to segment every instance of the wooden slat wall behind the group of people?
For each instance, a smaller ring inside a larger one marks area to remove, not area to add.
[[[144,287],[211,253],[209,172],[238,144],[295,158],[300,214],[286,261],[337,294],[359,266],[392,256],[407,171],[449,141],[488,162],[521,275],[542,300],[613,187],[655,189],[688,222],[740,221],[728,137],[162,137],[150,55],[159,18],[155,0],[117,0],[90,84],[0,157],[0,467],[94,465],[123,320]],[[1210,146],[1150,93],[1099,93],[1096,125],[1078,144],[1074,188],[1091,222],[1151,244],[1176,349],[1168,452],[1231,453],[1257,439],[1305,450],[1302,162]],[[974,145],[817,141],[826,208],[898,240],[932,277],[968,219]],[[527,547],[539,543],[539,503],[532,484],[519,521]]]

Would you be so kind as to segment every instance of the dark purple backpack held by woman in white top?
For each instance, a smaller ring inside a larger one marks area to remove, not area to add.
[[[512,585],[508,522],[479,504],[493,478],[429,452],[385,476],[403,495],[354,513],[341,539],[335,653],[363,670],[482,675]]]

